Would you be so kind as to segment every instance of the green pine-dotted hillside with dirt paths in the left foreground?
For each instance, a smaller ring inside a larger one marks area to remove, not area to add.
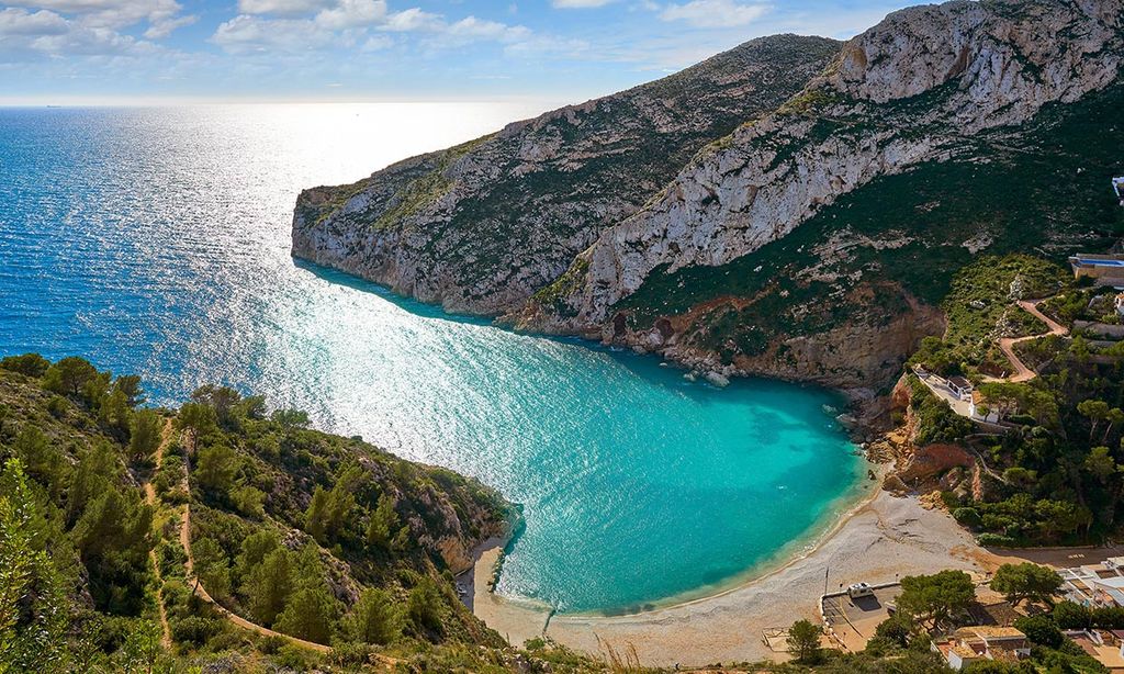
[[[0,671],[515,657],[450,575],[507,526],[497,494],[229,389],[143,400],[81,358],[0,362]]]

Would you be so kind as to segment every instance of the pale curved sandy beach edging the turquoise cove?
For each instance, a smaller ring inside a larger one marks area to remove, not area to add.
[[[799,618],[818,622],[817,602],[828,588],[859,581],[892,582],[904,575],[960,568],[982,575],[1001,558],[980,548],[948,514],[915,498],[879,492],[858,507],[813,550],[787,565],[715,596],[632,616],[553,616],[488,592],[500,549],[484,552],[474,571],[474,612],[511,644],[544,634],[573,648],[602,653],[598,643],[635,647],[649,665],[698,666],[780,658],[762,631]]]

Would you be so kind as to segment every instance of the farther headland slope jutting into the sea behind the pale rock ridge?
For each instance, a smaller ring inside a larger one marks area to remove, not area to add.
[[[746,43],[635,89],[306,190],[293,255],[477,313],[517,309],[705,144],[771,111],[839,43]]]

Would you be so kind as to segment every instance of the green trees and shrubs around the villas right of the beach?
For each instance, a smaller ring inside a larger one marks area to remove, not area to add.
[[[1019,286],[1015,294],[1021,297],[1060,289],[1061,300],[1043,304],[1063,320],[1080,315],[1079,306],[1094,297],[1033,257],[985,257],[964,267],[943,302],[949,316],[945,338],[923,340],[909,361],[945,376],[973,380],[982,397],[980,410],[998,412],[1009,428],[1005,434],[977,428],[912,379],[915,441],[962,444],[986,466],[980,489],[961,484],[945,493],[955,519],[976,530],[984,545],[1071,544],[1115,536],[1124,497],[1124,347],[1095,347],[1080,336],[1032,339],[1017,345],[1018,354],[1039,376],[1021,383],[988,381],[985,375],[999,374],[999,363],[1006,362],[989,345],[1000,336],[1045,330],[1036,320],[1012,324],[1012,315],[1003,309],[1010,307],[1013,297],[1005,289],[1012,284]],[[1004,325],[1006,330],[996,328]]]

